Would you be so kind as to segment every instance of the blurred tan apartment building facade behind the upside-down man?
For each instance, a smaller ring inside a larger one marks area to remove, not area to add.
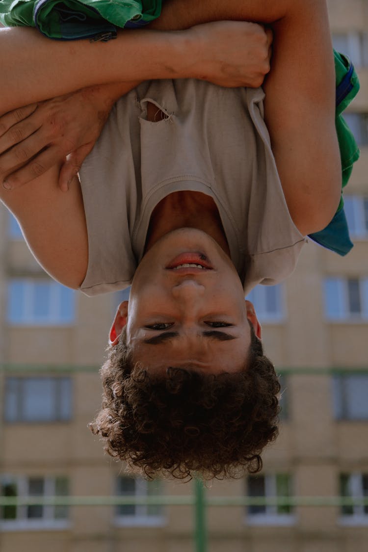
[[[361,147],[345,192],[354,249],[340,258],[310,243],[291,278],[249,297],[281,374],[281,430],[259,475],[206,490],[209,501],[223,499],[206,512],[211,552],[367,548],[368,2],[330,0],[329,13],[334,45],[361,82],[346,116]],[[0,497],[182,497],[175,506],[8,503],[0,506],[1,552],[194,550],[193,482],[130,477],[87,427],[122,296],[87,298],[52,282],[1,209]],[[278,496],[290,503],[225,505],[226,497]]]

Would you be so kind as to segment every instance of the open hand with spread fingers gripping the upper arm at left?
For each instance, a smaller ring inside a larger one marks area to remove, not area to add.
[[[82,89],[0,117],[3,186],[18,188],[62,164],[58,183],[67,191],[113,105],[99,92],[99,87]]]

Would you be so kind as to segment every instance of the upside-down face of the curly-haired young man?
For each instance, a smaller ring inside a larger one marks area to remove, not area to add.
[[[246,363],[253,316],[225,252],[205,232],[179,229],[158,240],[136,270],[127,344],[134,363],[152,370],[239,371]]]

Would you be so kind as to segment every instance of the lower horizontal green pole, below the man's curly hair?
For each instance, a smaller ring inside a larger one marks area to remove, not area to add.
[[[0,497],[0,506],[191,506],[195,496],[18,496]],[[340,496],[215,496],[205,506],[368,506],[368,497]]]

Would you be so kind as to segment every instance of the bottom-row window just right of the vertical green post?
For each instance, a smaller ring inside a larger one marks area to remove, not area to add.
[[[289,474],[249,475],[247,478],[248,497],[274,498],[291,497],[291,477]],[[293,507],[290,505],[249,505],[247,522],[250,524],[290,525],[295,522]]]

